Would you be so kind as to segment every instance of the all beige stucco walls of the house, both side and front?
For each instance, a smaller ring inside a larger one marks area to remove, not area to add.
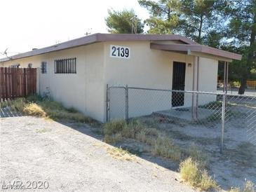
[[[110,45],[129,47],[130,58],[110,57]],[[76,57],[77,74],[54,74],[54,60],[69,57]],[[194,56],[150,49],[149,41],[94,43],[4,62],[4,67],[17,63],[22,67],[29,63],[33,67],[41,67],[43,61],[48,63],[47,74],[38,73],[38,92],[42,95],[49,87],[53,100],[62,102],[65,107],[74,107],[98,121],[106,120],[107,84],[171,90],[175,61],[186,63],[185,90],[192,90]],[[217,88],[217,60],[201,57],[199,66],[199,90],[214,92]],[[110,93],[110,115],[123,117],[124,91]],[[128,96],[130,117],[171,108],[170,92],[129,89]],[[203,96],[199,104],[213,100],[215,97]],[[191,94],[185,94],[184,107],[191,107]]]

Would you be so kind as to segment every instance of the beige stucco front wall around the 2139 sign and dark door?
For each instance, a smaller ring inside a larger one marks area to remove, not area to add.
[[[166,43],[166,42],[165,42]],[[174,43],[174,42],[172,42]],[[110,46],[130,48],[130,58],[110,57]],[[172,89],[173,62],[185,62],[185,90],[192,90],[194,56],[150,49],[149,41],[105,43],[105,85],[129,85],[140,88]],[[191,63],[191,67],[189,67]],[[214,92],[217,88],[217,60],[200,59],[199,90]],[[110,90],[110,118],[124,116],[124,90]],[[171,93],[129,89],[129,117],[148,115],[171,109]],[[191,94],[185,94],[184,107],[191,107]],[[215,100],[202,96],[199,104]]]

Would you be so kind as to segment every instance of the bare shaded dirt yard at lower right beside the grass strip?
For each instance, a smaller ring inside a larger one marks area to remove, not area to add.
[[[243,108],[239,107],[239,111]],[[188,149],[198,146],[208,159],[208,170],[220,187],[243,186],[245,179],[256,182],[255,139],[248,137],[245,118],[231,118],[224,131],[224,151],[220,153],[221,124],[193,125],[189,122],[170,120],[161,122],[159,116],[146,116],[141,121],[157,123],[156,128],[166,132],[175,144]],[[249,135],[250,136],[250,135]],[[255,135],[256,137],[256,135]],[[159,162],[161,164],[161,162]],[[164,163],[168,165],[168,163]],[[170,163],[169,163],[170,165]],[[178,165],[176,165],[177,169]],[[175,170],[173,165],[172,170]]]

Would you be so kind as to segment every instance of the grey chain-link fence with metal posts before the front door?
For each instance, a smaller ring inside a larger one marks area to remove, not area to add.
[[[221,150],[224,128],[244,128],[246,139],[256,144],[255,96],[128,86],[107,88],[107,121],[137,117],[151,118],[166,126],[177,121],[217,128],[220,131],[216,134],[222,138]]]

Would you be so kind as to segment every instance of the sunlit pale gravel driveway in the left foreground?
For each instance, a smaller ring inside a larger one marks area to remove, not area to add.
[[[194,191],[177,172],[138,157],[112,158],[112,146],[92,128],[13,117],[0,118],[0,130],[0,191],[13,181],[47,181],[38,191]]]

